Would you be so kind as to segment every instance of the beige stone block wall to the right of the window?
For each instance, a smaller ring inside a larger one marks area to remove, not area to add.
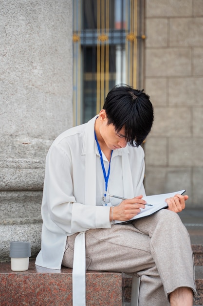
[[[203,1],[146,0],[145,22],[146,191],[186,189],[187,206],[203,207]]]

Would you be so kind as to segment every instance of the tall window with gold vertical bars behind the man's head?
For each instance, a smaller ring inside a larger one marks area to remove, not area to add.
[[[114,85],[137,87],[139,25],[137,1],[74,0],[73,8],[74,124],[78,125],[99,112]]]

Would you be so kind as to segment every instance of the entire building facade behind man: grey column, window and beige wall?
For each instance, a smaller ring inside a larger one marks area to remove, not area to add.
[[[85,2],[79,21],[83,1],[0,1],[0,260],[11,240],[37,254],[48,148],[117,83],[154,105],[147,194],[186,189],[203,207],[203,0]]]

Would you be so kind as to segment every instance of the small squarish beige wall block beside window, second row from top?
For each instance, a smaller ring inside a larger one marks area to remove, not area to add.
[[[166,47],[167,46],[167,26],[166,18],[150,18],[146,20],[146,47]]]

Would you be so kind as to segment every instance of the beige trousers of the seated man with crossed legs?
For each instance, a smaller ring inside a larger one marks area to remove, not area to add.
[[[63,265],[73,267],[74,239],[67,238]],[[178,287],[195,292],[194,262],[188,232],[167,209],[111,229],[85,233],[86,269],[119,271],[141,278],[139,306],[167,306]]]

